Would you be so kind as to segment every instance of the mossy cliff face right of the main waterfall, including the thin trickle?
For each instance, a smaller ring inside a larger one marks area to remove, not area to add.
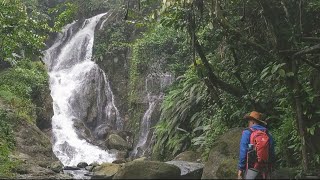
[[[149,153],[153,133],[150,128],[159,120],[164,88],[173,82],[160,56],[137,65],[137,72],[134,72],[132,49],[118,44],[133,42],[140,32],[141,29],[126,23],[121,14],[114,12],[103,27],[96,30],[94,45],[95,61],[110,80],[125,130],[134,134],[134,156]],[[134,73],[139,75],[133,78]]]

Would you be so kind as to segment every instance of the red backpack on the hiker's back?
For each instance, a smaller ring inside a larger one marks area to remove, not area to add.
[[[269,136],[266,129],[256,130],[249,128],[249,130],[251,131],[250,144],[254,145],[254,150],[256,151],[257,157],[254,167],[260,169],[269,161]]]

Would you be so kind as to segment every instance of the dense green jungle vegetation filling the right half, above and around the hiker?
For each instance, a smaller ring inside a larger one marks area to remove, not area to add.
[[[244,127],[243,115],[257,110],[276,139],[277,166],[317,169],[320,3],[153,3],[150,10],[150,1],[136,1],[127,20],[147,29],[133,43],[137,61],[161,56],[179,76],[162,103],[153,156],[200,148],[206,158],[217,135]]]

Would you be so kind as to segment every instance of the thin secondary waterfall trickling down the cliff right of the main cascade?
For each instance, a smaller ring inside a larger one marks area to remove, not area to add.
[[[136,157],[143,156],[149,148],[148,138],[150,138],[150,127],[152,122],[152,114],[156,106],[162,101],[164,93],[163,89],[172,84],[173,77],[169,73],[149,74],[145,80],[145,90],[147,92],[148,109],[143,115],[140,123],[139,140],[132,151],[132,155]]]

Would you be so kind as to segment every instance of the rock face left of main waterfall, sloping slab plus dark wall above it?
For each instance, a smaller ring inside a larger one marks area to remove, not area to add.
[[[14,152],[10,159],[17,162],[13,173],[22,179],[68,179],[68,175],[61,173],[62,164],[52,151],[51,117],[52,99],[50,90],[43,91],[32,98],[37,107],[36,123],[25,119],[14,118],[13,136],[15,140]],[[8,109],[5,105],[2,107]],[[13,115],[13,117],[15,117]]]

